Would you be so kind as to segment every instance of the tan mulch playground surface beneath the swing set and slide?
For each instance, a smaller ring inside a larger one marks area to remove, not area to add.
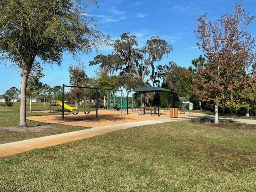
[[[123,111],[123,115],[120,116],[120,111],[112,111],[106,109],[98,110],[98,118],[95,118],[96,111],[91,111],[90,114],[78,113],[77,115],[65,114],[65,120],[62,121],[61,115],[43,115],[43,116],[29,116],[28,120],[44,122],[44,123],[59,123],[63,125],[81,126],[81,127],[100,127],[104,125],[116,125],[121,123],[130,123],[146,120],[157,119],[170,119],[170,111],[160,110],[160,117],[157,115],[138,115],[138,111],[129,109],[128,114]],[[179,113],[179,117],[188,117],[188,113]],[[193,117],[202,117],[202,114],[194,114]]]

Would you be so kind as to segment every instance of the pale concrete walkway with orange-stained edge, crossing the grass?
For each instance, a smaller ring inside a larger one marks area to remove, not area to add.
[[[171,121],[184,121],[184,119],[159,119],[150,121],[139,121],[132,123],[123,123],[117,125],[108,125],[103,127],[94,127],[90,129],[84,129],[80,131],[73,131],[69,133],[62,133],[57,135],[50,135],[46,137],[38,137],[34,139],[27,139],[23,141],[16,141],[12,143],[0,144],[0,157],[8,156],[11,154],[20,153],[23,151],[32,150],[35,148],[43,148],[47,146],[54,146],[57,144],[67,143],[70,141],[76,141],[79,139],[85,139],[94,137],[96,135],[102,135],[112,131],[118,131],[121,129],[127,129],[130,127],[137,127],[142,125],[152,125],[156,123],[166,123]],[[186,119],[185,119],[186,121]]]

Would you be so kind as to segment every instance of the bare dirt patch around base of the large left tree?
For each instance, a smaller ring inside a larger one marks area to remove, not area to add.
[[[38,125],[30,127],[0,127],[0,132],[40,132],[47,129],[56,129],[50,125]]]

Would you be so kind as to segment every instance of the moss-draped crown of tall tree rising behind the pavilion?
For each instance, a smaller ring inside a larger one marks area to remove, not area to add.
[[[155,36],[146,42],[146,46],[138,48],[136,36],[123,33],[119,39],[114,40],[113,53],[97,55],[90,65],[100,64],[110,74],[119,72],[120,75],[135,77],[141,81],[152,81],[158,84],[156,62],[160,62],[164,55],[172,51],[172,46],[165,40]],[[151,74],[150,74],[151,72]],[[119,74],[118,74],[119,75]],[[146,76],[150,76],[146,79]]]

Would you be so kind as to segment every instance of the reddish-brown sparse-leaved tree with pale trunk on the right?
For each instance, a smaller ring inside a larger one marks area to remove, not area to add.
[[[208,64],[204,70],[204,97],[214,101],[215,123],[218,123],[218,105],[223,95],[236,88],[240,73],[246,71],[254,60],[254,39],[246,27],[254,17],[235,4],[234,14],[225,14],[216,22],[207,20],[206,14],[197,20],[197,45],[205,52]]]

